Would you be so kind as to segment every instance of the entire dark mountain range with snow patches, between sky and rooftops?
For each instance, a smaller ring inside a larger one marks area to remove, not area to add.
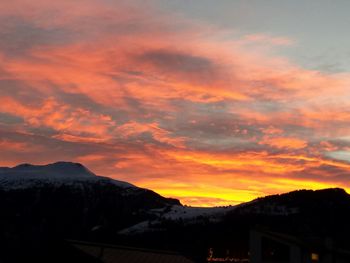
[[[209,247],[247,250],[249,231],[257,226],[331,237],[343,247],[350,235],[350,195],[343,189],[298,190],[238,206],[195,208],[70,162],[1,167],[0,211],[3,262],[28,255],[44,262],[58,250],[62,256],[70,249],[67,239],[177,250],[200,261]]]

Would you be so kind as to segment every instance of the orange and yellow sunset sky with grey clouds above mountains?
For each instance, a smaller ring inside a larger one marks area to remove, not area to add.
[[[0,1],[0,166],[179,198],[350,190],[350,1]]]

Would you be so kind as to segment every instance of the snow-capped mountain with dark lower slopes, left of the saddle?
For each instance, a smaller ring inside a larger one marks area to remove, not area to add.
[[[148,218],[149,209],[175,204],[180,205],[151,190],[96,176],[76,163],[0,168],[0,245],[7,252],[0,257],[58,253],[51,250],[63,246],[63,239],[106,242]]]

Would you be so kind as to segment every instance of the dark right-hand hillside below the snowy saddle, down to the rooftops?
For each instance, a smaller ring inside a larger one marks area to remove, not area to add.
[[[205,262],[210,248],[214,255],[248,258],[249,232],[262,229],[297,239],[332,240],[335,247],[350,250],[350,195],[343,189],[300,190],[267,196],[239,205],[212,222],[202,218],[187,224],[169,221],[153,232],[129,237],[140,244],[152,243],[182,251]],[[170,237],[170,238],[169,238]]]

